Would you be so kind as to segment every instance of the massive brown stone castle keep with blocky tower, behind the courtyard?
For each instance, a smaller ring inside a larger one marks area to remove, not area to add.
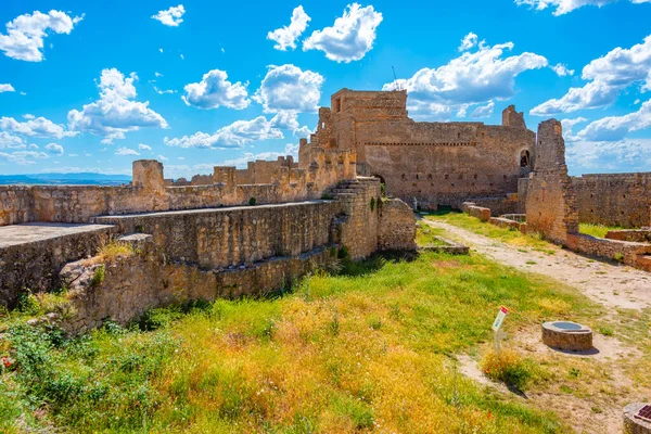
[[[388,194],[424,207],[459,208],[473,197],[503,197],[528,175],[535,133],[513,106],[502,126],[417,123],[407,116],[406,92],[344,89],[319,112],[311,141],[357,151],[358,174],[379,176]],[[525,167],[523,152],[528,153]]]

